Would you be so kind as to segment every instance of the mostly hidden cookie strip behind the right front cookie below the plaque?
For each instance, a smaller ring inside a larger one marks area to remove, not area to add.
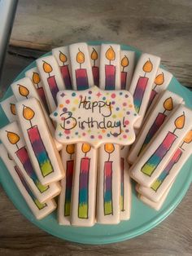
[[[120,148],[120,219],[129,219],[131,214],[131,179],[127,156],[129,146]]]

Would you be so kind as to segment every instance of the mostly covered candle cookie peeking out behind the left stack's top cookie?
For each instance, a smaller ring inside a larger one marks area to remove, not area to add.
[[[12,83],[11,89],[17,101],[21,101],[24,99],[31,99],[31,98],[36,98],[39,101],[39,103],[41,104],[41,109],[43,111],[43,114],[46,117],[47,126],[49,127],[52,137],[54,138],[55,128],[53,126],[53,123],[50,121],[50,117],[46,113],[46,109],[44,108],[41,98],[37,93],[37,89],[33,86],[33,82],[28,77],[24,77],[19,81]],[[62,145],[56,139],[55,139],[55,145],[58,150],[62,148]]]

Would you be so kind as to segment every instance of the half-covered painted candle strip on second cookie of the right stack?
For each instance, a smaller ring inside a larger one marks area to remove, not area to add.
[[[172,156],[171,160],[168,162],[168,165],[164,168],[163,172],[159,175],[159,177],[155,180],[155,183],[152,184],[151,188],[156,192],[160,185],[164,182],[164,179],[168,176],[172,167],[177,164],[181,155],[182,155],[181,148],[177,148],[177,151]]]

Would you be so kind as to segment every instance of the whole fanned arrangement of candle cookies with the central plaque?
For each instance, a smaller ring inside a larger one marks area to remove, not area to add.
[[[167,90],[158,56],[135,55],[62,46],[11,84],[0,157],[37,219],[57,210],[60,225],[129,220],[131,179],[141,203],[164,205],[192,153],[192,110]]]

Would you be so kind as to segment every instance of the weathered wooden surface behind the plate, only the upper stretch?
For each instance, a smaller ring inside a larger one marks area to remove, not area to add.
[[[20,0],[2,93],[45,51],[93,40],[128,44],[159,55],[181,84],[192,86],[191,13],[191,0]]]

